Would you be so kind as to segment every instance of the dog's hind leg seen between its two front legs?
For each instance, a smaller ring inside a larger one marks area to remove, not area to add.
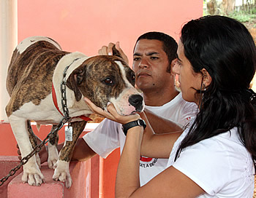
[[[57,125],[53,125],[52,129],[50,132],[55,130]],[[56,164],[56,162],[59,159],[59,151],[57,149],[59,141],[59,135],[58,135],[58,130],[56,132],[53,132],[52,135],[50,135],[50,140],[48,142],[48,167],[50,169],[53,169],[53,166]]]

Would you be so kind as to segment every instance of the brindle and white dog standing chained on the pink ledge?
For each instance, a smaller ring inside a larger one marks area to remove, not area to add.
[[[83,97],[104,109],[109,102],[113,103],[118,114],[123,115],[143,111],[144,102],[134,87],[134,72],[121,58],[103,55],[89,58],[80,52],[64,52],[56,41],[48,37],[24,39],[15,48],[8,68],[7,91],[10,101],[6,107],[21,157],[26,157],[36,144],[31,131],[31,120],[38,125],[53,124],[54,129],[63,119],[60,87],[65,68],[67,109],[72,117],[72,140],[65,140],[59,153],[56,149],[58,135],[54,134],[50,138],[48,166],[55,169],[53,180],[65,182],[69,188],[72,185],[69,162],[75,143],[86,125],[86,121],[80,116],[92,113]],[[53,95],[56,95],[56,105]],[[39,167],[38,155],[31,157],[23,165],[22,181],[33,186],[41,185],[44,176]]]

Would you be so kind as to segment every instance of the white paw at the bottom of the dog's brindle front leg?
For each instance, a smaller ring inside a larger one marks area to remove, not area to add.
[[[53,180],[65,182],[67,189],[69,189],[72,186],[72,178],[69,173],[69,162],[58,160],[54,165],[54,169]]]

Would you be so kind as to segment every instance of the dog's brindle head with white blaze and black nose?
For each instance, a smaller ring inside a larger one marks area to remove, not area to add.
[[[85,60],[67,79],[67,87],[75,92],[75,100],[85,96],[103,109],[110,102],[121,115],[143,111],[143,97],[134,86],[135,74],[127,63],[107,55]]]

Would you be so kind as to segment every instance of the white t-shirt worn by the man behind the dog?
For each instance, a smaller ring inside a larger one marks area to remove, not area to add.
[[[197,113],[195,103],[185,101],[181,93],[163,106],[146,106],[146,108],[158,116],[170,119],[181,126],[185,126],[192,116],[195,116]],[[95,130],[83,136],[83,139],[91,149],[103,158],[108,157],[108,154],[118,147],[120,147],[120,151],[122,151],[125,138],[126,136],[121,128],[121,124],[109,119],[104,119]],[[165,170],[167,160],[168,159],[141,157],[140,185],[143,186],[150,181],[151,178],[154,178],[154,176],[158,175],[162,170]]]

